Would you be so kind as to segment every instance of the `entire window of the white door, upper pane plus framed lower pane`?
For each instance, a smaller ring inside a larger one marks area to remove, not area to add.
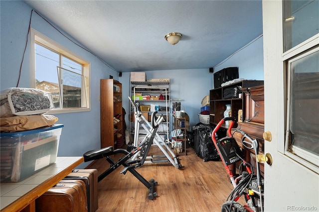
[[[283,1],[285,154],[319,172],[319,1]]]

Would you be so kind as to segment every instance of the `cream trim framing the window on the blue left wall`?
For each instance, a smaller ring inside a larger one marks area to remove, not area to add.
[[[35,81],[35,43],[36,41],[40,42],[41,44],[56,50],[57,52],[73,59],[77,62],[83,64],[83,75],[85,80],[85,92],[86,92],[86,102],[87,107],[85,108],[62,108],[62,109],[51,109],[46,114],[59,114],[59,113],[68,113],[68,112],[84,112],[91,110],[91,84],[90,84],[90,76],[91,76],[91,63],[86,59],[78,56],[74,52],[68,50],[64,46],[60,45],[59,43],[55,42],[54,40],[46,37],[45,35],[41,34],[40,32],[36,31],[35,29],[30,29],[30,87],[36,88],[36,81]]]

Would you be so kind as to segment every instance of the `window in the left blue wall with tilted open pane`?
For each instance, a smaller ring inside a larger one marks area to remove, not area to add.
[[[52,94],[51,113],[89,110],[89,62],[33,29],[31,38],[34,48],[31,70],[35,70],[31,83]]]

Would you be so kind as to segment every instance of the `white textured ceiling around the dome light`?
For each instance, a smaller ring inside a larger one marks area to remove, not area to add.
[[[261,0],[25,1],[122,72],[214,67],[263,32]]]

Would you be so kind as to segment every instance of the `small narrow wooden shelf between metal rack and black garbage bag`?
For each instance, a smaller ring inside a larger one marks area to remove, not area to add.
[[[180,129],[181,134],[174,140],[172,138],[172,147],[177,155],[186,155],[186,118],[173,115],[173,128],[174,130]]]

